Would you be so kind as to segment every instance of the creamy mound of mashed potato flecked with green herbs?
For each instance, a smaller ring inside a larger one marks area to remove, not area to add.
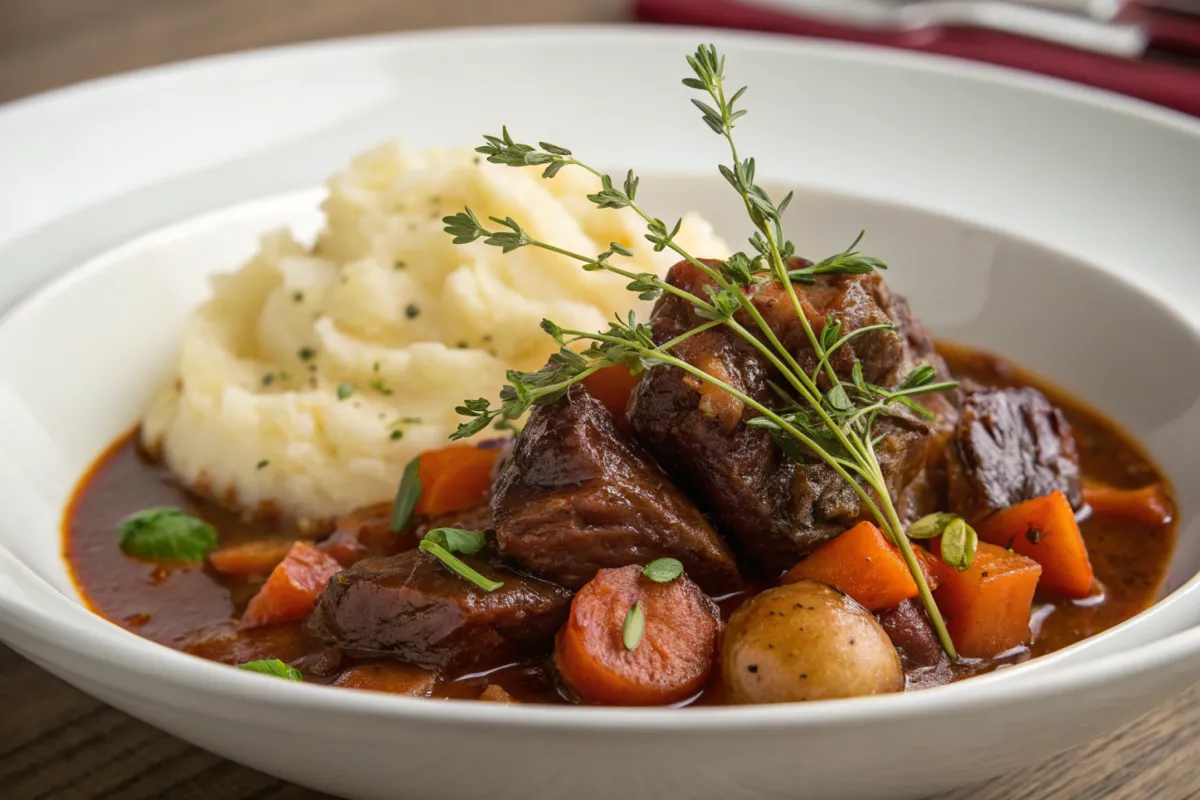
[[[409,459],[446,444],[456,405],[494,399],[508,368],[545,363],[542,318],[600,330],[640,305],[624,278],[560,255],[454,245],[442,217],[469,205],[587,254],[618,242],[635,252],[622,266],[664,273],[673,254],[652,251],[632,211],[589,203],[596,188],[581,169],[542,180],[467,149],[364,154],[329,181],[312,248],[272,233],[212,279],[174,380],[143,420],[145,444],[197,491],[248,512],[324,521],[390,500]],[[678,241],[728,253],[696,216]]]

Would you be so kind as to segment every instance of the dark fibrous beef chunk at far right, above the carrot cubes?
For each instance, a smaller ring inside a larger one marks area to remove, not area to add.
[[[970,521],[1055,489],[1082,504],[1070,425],[1036,389],[967,393],[948,459],[949,510]]]

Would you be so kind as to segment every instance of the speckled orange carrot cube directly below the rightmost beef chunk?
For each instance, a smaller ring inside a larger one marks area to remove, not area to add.
[[[1075,512],[1062,492],[997,511],[978,529],[985,542],[1012,548],[1042,565],[1038,589],[1056,597],[1086,597],[1096,576]]]

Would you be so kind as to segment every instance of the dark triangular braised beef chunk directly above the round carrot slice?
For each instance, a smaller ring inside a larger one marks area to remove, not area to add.
[[[529,416],[492,506],[500,552],[571,589],[662,557],[709,594],[742,585],[703,515],[581,385]]]

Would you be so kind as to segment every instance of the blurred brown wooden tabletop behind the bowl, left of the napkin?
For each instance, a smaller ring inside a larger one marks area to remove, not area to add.
[[[628,0],[0,0],[0,102],[127,70],[386,31],[614,23]]]

